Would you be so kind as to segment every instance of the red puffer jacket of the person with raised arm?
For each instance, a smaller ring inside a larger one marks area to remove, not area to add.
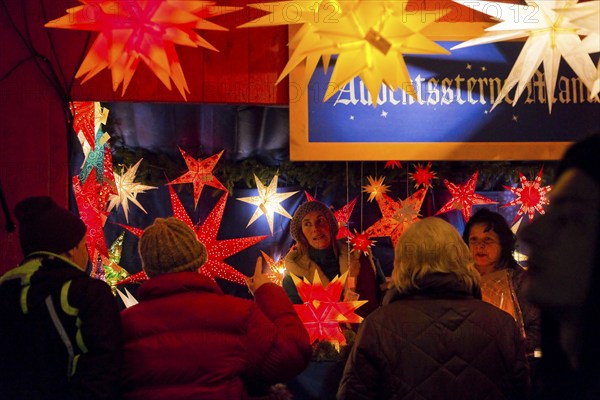
[[[308,333],[275,284],[254,303],[178,272],[151,278],[138,297],[121,313],[125,399],[242,399],[247,383],[288,380],[310,359]]]

